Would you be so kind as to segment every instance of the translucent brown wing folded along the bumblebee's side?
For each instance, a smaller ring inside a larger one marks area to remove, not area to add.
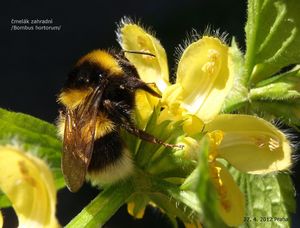
[[[78,108],[66,111],[62,172],[71,192],[78,191],[85,180],[93,152],[97,110],[103,89],[104,83]]]

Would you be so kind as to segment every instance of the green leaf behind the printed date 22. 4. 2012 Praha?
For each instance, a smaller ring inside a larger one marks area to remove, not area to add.
[[[250,175],[232,167],[230,172],[246,197],[245,222],[240,227],[290,227],[295,190],[289,174]]]

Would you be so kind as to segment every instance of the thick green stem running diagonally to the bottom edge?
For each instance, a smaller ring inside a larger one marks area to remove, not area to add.
[[[66,227],[102,227],[132,194],[130,181],[118,182],[104,189]]]

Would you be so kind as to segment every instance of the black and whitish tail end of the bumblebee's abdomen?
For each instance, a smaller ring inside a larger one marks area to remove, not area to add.
[[[128,177],[132,170],[131,154],[119,132],[112,131],[95,140],[87,173],[93,185],[111,184]]]

